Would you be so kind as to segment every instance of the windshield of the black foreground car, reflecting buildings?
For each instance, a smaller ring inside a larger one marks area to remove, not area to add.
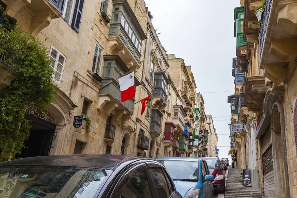
[[[0,197],[93,198],[112,172],[64,166],[2,166]]]

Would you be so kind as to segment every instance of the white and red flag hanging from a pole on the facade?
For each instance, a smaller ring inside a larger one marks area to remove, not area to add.
[[[134,72],[118,79],[121,90],[121,102],[133,99],[135,96]]]

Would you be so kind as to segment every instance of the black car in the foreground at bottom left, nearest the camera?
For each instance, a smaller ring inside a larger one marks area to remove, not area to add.
[[[160,162],[108,154],[3,162],[0,189],[5,198],[182,198]]]

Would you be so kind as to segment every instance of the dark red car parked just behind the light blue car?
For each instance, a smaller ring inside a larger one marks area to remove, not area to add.
[[[225,193],[225,170],[221,160],[217,157],[202,157],[208,165],[210,174],[214,177],[212,182],[215,193]],[[170,173],[169,173],[170,174]]]

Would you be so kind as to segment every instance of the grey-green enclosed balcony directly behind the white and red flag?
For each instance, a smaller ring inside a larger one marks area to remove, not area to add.
[[[125,123],[134,111],[134,99],[121,102],[121,91],[117,81],[114,81],[122,73],[130,71],[119,56],[104,55],[104,68],[102,74],[102,83],[99,89],[99,99],[97,109],[110,115],[116,110],[115,120],[122,119]],[[135,85],[140,85],[134,76]]]

